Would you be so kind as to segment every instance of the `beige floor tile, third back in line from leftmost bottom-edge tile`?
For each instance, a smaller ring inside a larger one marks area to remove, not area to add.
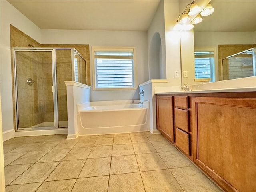
[[[70,149],[51,150],[45,156],[43,156],[38,161],[38,163],[61,161],[68,154],[69,151],[70,151]]]

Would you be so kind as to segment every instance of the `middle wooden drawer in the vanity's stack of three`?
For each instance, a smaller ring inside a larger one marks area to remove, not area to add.
[[[188,111],[175,108],[174,114],[175,114],[175,126],[186,132],[189,132]]]

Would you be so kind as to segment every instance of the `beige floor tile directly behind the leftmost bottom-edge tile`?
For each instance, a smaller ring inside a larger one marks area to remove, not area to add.
[[[58,164],[59,162],[35,163],[11,184],[43,182]]]

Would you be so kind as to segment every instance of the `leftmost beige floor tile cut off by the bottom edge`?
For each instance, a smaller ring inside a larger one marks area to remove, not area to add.
[[[20,185],[9,185],[5,188],[5,192],[35,192],[41,184],[42,182],[20,184]]]

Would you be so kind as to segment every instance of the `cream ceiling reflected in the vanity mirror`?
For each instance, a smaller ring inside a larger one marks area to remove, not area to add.
[[[210,4],[214,12],[202,17],[194,31],[256,31],[256,0],[212,0]]]

